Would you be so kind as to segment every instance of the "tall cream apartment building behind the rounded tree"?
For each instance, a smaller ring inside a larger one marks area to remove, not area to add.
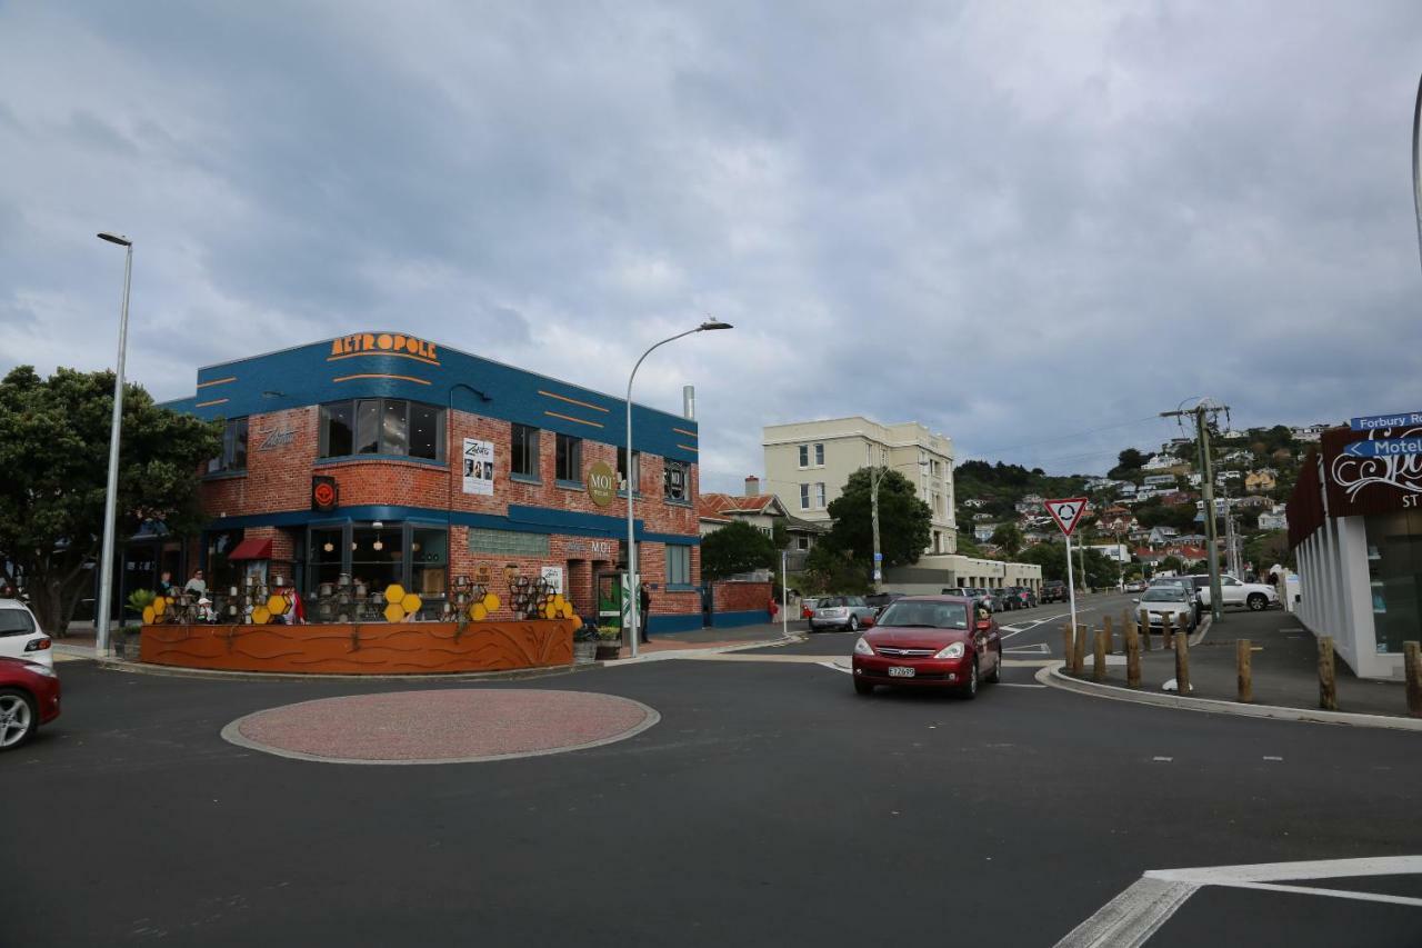
[[[766,488],[791,514],[829,525],[829,504],[849,475],[875,464],[899,471],[933,511],[924,554],[957,552],[953,440],[917,421],[880,424],[863,416],[771,424],[761,430]]]

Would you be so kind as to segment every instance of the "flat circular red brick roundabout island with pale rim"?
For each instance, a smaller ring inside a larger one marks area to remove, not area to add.
[[[624,740],[660,715],[616,695],[451,689],[324,697],[239,717],[222,736],[299,760],[476,763]]]

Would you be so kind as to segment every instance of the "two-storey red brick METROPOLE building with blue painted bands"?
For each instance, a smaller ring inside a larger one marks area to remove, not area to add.
[[[513,568],[555,578],[592,616],[599,574],[626,567],[620,399],[357,333],[208,366],[168,407],[226,420],[203,473],[210,522],[188,544],[215,589],[257,571],[310,595],[344,574],[400,582],[432,615],[452,578],[502,594]],[[633,443],[651,632],[701,628],[697,424],[634,404]],[[502,598],[493,618],[512,618]]]

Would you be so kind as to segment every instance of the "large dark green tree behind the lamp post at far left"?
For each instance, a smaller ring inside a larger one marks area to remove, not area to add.
[[[31,608],[64,635],[94,582],[104,534],[114,374],[18,366],[0,381],[0,564],[26,578]],[[144,522],[183,535],[202,524],[198,468],[222,450],[222,424],[124,390],[118,537]]]

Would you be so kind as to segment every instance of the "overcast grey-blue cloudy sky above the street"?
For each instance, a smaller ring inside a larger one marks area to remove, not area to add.
[[[1422,4],[0,3],[0,370],[367,329],[1101,471],[1422,409]]]

